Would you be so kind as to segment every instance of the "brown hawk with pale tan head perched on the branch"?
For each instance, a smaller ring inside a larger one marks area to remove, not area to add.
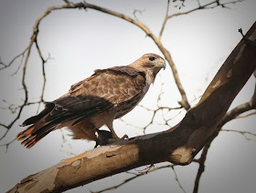
[[[118,140],[113,120],[138,105],[161,68],[165,68],[161,56],[145,54],[128,66],[97,69],[92,76],[71,86],[66,95],[46,103],[37,116],[27,118],[22,126],[31,126],[20,132],[17,139],[30,148],[51,131],[69,127],[74,139],[97,141],[96,132],[106,125],[112,140]]]

